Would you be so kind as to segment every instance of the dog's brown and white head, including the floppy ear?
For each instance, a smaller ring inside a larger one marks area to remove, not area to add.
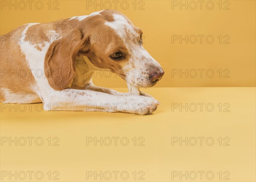
[[[96,68],[110,69],[131,85],[140,88],[155,85],[164,71],[143,48],[142,34],[141,29],[119,11],[104,10],[89,15],[49,47],[44,66],[50,85],[63,89],[69,84],[75,75],[78,55],[86,56]],[[61,79],[54,78],[56,66],[64,70],[60,73]]]

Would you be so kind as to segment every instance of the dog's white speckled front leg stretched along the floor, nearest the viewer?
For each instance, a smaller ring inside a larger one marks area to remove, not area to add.
[[[44,97],[44,96],[43,96]],[[150,114],[160,104],[151,97],[115,96],[91,90],[65,89],[51,91],[44,97],[45,110],[105,111]]]

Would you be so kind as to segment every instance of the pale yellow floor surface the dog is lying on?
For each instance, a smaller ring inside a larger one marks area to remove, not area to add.
[[[146,116],[1,103],[1,181],[256,181],[255,88],[143,91]]]

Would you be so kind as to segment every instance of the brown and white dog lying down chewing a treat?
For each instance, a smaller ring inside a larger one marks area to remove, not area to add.
[[[0,68],[4,103],[43,102],[45,110],[143,115],[160,102],[143,92],[131,95],[95,86],[93,72],[87,70],[108,68],[139,88],[155,85],[164,74],[143,48],[140,28],[114,10],[29,23],[1,35]],[[134,70],[140,70],[140,77]]]

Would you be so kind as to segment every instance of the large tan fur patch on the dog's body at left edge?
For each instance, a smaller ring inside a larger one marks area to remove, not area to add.
[[[1,35],[0,38],[0,89],[7,88],[14,94],[22,95],[33,93],[32,85],[36,83],[18,41],[13,40],[13,38],[19,37],[25,28],[26,25],[20,26],[8,34]],[[5,71],[7,71],[6,74],[4,74]],[[5,102],[7,98],[4,97],[2,91],[0,92],[0,101]]]

